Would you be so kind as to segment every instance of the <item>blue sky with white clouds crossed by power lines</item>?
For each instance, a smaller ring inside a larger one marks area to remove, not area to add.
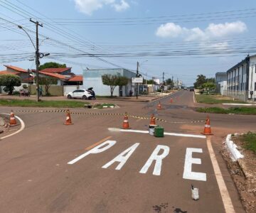
[[[39,27],[41,59],[82,70],[124,67],[147,77],[174,77],[186,86],[203,74],[225,72],[255,49],[256,1],[0,0],[0,70],[35,68]],[[47,39],[46,39],[47,38]],[[91,57],[88,57],[87,53]]]

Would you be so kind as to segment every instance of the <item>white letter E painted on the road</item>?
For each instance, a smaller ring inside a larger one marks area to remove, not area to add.
[[[206,181],[206,173],[192,172],[192,164],[201,164],[201,159],[192,158],[192,153],[203,153],[203,150],[201,148],[186,148],[183,178],[189,180]]]

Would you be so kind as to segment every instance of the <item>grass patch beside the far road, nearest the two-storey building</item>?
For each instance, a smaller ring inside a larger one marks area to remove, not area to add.
[[[239,103],[245,104],[245,102],[233,100],[230,97],[223,97],[222,95],[213,94],[196,94],[196,101],[203,104],[222,104],[222,103]]]

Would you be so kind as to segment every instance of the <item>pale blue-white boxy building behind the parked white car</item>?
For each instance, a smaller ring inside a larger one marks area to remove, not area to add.
[[[129,91],[134,92],[134,84],[132,77],[136,77],[136,73],[123,68],[117,69],[99,69],[99,70],[83,70],[83,87],[85,89],[93,87],[96,95],[110,96],[110,86],[102,83],[102,75],[121,75],[129,79],[128,84],[122,87],[116,87],[113,96],[129,96]]]

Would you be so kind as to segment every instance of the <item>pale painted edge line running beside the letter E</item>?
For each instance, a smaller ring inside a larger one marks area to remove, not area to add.
[[[213,151],[213,146],[211,145],[211,142],[210,142],[210,137],[208,137],[206,141],[207,141],[208,152],[210,154],[210,160],[213,164],[213,170],[214,170],[215,177],[216,177],[218,187],[220,190],[220,195],[222,197],[223,205],[225,207],[225,212],[226,213],[235,213],[235,209],[234,209],[232,201],[230,199],[228,189],[225,185],[223,175],[220,172],[220,167],[218,165],[218,161],[217,161],[215,153]]]

